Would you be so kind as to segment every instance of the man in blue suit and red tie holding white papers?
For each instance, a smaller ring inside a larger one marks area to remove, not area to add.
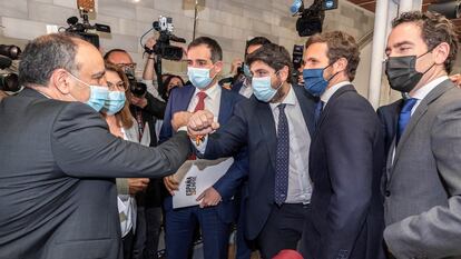
[[[195,39],[188,46],[188,76],[193,84],[171,91],[160,142],[173,136],[171,116],[178,111],[210,110],[218,122],[224,124],[230,118],[235,103],[244,98],[222,88],[216,76],[223,68],[223,51],[219,44],[207,37]],[[166,248],[168,259],[185,259],[192,246],[194,228],[198,221],[202,228],[205,259],[226,259],[230,223],[234,220],[234,195],[241,187],[246,166],[246,156],[236,152],[235,162],[228,171],[198,199],[200,206],[173,209],[173,198],[165,199]],[[175,180],[165,179],[173,192]]]

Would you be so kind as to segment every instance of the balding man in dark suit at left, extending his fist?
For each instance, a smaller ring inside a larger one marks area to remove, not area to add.
[[[146,148],[114,137],[98,113],[102,57],[81,39],[35,39],[19,80],[26,89],[0,103],[0,258],[121,258],[114,178],[173,173],[190,140],[178,132]]]

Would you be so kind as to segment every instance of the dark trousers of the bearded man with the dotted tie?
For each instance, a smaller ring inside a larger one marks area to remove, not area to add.
[[[274,203],[271,215],[256,238],[263,259],[271,259],[283,249],[296,250],[302,238],[308,205],[284,203],[281,207]]]

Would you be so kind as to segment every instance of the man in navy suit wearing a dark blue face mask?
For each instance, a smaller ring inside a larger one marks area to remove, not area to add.
[[[342,31],[306,42],[304,84],[320,100],[310,152],[314,191],[305,258],[384,256],[383,139],[375,111],[351,83],[359,56],[354,38]]]

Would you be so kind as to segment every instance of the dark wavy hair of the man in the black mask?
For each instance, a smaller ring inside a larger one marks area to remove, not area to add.
[[[403,12],[395,18],[392,21],[392,28],[405,22],[414,22],[421,28],[421,37],[429,50],[442,42],[447,42],[450,46],[450,52],[444,62],[445,71],[450,73],[458,53],[458,34],[454,30],[454,24],[437,12],[411,11]]]

